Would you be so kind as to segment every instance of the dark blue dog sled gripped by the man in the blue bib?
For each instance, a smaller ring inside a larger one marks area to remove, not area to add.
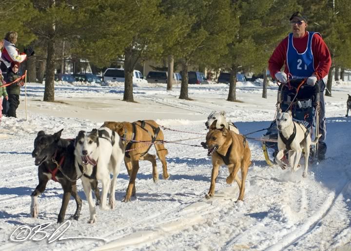
[[[277,110],[280,108],[283,112],[290,110],[292,119],[295,122],[305,125],[310,130],[312,140],[318,135],[319,121],[319,85],[310,86],[305,84],[303,79],[290,80],[287,84],[280,84],[277,95]],[[275,163],[275,155],[278,152],[278,129],[275,118],[268,127],[267,132],[262,135],[262,150],[269,166]],[[275,142],[273,142],[275,141]],[[287,157],[288,151],[284,153]],[[310,162],[316,162],[318,157],[318,143],[311,146]],[[287,159],[287,158],[285,158]]]

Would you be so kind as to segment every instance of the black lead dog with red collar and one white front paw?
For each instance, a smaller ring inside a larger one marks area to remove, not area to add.
[[[77,193],[77,172],[74,164],[74,140],[61,139],[62,130],[63,129],[59,130],[53,135],[45,134],[44,131],[39,131],[37,138],[34,141],[34,150],[32,153],[33,158],[35,158],[34,164],[39,166],[39,185],[31,195],[31,216],[33,218],[38,216],[38,196],[40,193],[44,192],[47,182],[52,179],[59,182],[63,188],[63,198],[61,209],[59,211],[58,223],[64,221],[64,216],[71,195],[77,203],[76,212],[71,218],[78,220],[82,204],[82,200]],[[95,182],[94,188],[97,204],[99,204],[100,195],[98,181]]]

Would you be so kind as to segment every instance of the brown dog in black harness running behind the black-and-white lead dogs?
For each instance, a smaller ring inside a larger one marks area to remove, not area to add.
[[[135,180],[137,178],[137,171],[139,170],[139,160],[147,160],[152,163],[153,166],[153,180],[154,182],[158,179],[157,167],[156,167],[156,156],[149,154],[148,151],[151,148],[151,141],[155,143],[163,141],[163,132],[160,130],[159,125],[154,120],[136,121],[133,123],[129,122],[110,122],[106,121],[102,126],[106,126],[111,130],[117,132],[119,137],[123,138],[123,144],[126,150],[124,156],[124,163],[127,167],[129,174],[129,185],[126,191],[126,195],[123,199],[124,202],[130,201],[131,196],[136,193]],[[145,143],[141,142],[130,142],[135,141],[149,141]],[[168,179],[167,173],[167,162],[166,155],[168,154],[167,149],[163,144],[155,144],[156,154],[162,163],[162,177]],[[128,151],[129,149],[133,149]]]

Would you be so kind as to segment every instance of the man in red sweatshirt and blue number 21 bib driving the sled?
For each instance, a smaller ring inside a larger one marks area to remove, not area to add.
[[[292,33],[289,34],[273,51],[268,61],[271,75],[281,83],[287,83],[288,78],[305,79],[307,84],[318,84],[320,87],[320,109],[319,109],[319,138],[318,158],[324,159],[327,145],[325,123],[324,89],[326,78],[331,67],[331,56],[326,43],[321,35],[308,32],[307,18],[299,12],[292,14],[290,18]],[[284,66],[284,71],[281,68]]]

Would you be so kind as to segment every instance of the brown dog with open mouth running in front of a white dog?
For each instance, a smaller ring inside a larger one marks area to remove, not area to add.
[[[244,199],[245,179],[251,165],[251,151],[245,138],[226,128],[216,129],[216,121],[210,126],[210,131],[206,135],[206,143],[201,143],[208,149],[208,156],[212,155],[212,175],[211,186],[206,198],[209,199],[215,194],[215,181],[218,176],[218,168],[221,165],[228,166],[229,176],[227,183],[232,184],[235,180],[240,192],[238,200]],[[241,169],[241,181],[237,172]]]

